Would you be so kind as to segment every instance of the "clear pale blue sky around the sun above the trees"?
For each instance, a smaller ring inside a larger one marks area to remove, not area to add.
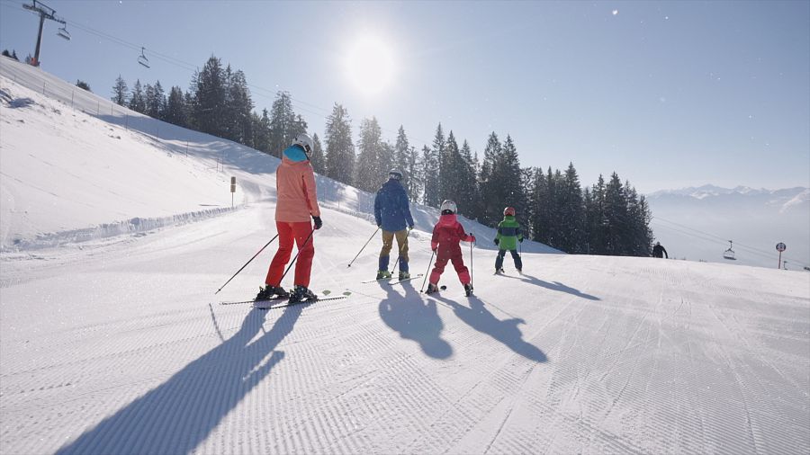
[[[0,48],[33,54],[31,0],[2,0]],[[257,109],[276,90],[323,135],[334,103],[418,149],[439,122],[482,153],[510,134],[521,165],[583,184],[616,171],[640,192],[714,183],[810,186],[810,2],[46,2],[43,70],[109,97],[130,84],[187,90],[211,55],[241,69]],[[365,94],[358,40],[393,62]],[[152,67],[140,67],[140,46]]]

